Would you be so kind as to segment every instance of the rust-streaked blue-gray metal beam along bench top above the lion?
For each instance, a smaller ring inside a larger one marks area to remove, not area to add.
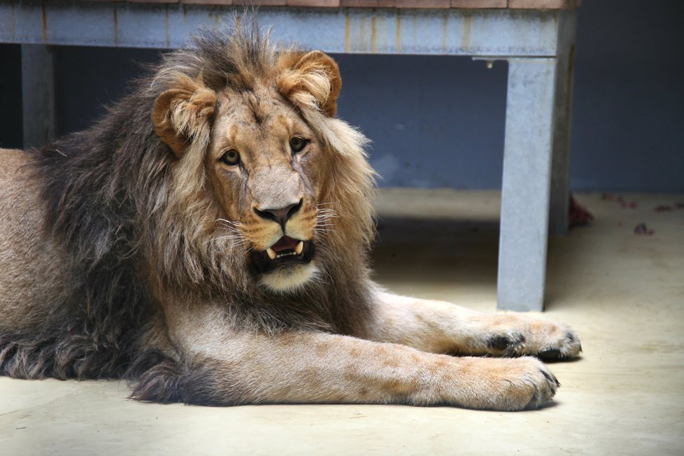
[[[0,3],[0,42],[178,48],[241,6],[180,3]],[[556,55],[558,11],[259,8],[273,38],[328,52]]]

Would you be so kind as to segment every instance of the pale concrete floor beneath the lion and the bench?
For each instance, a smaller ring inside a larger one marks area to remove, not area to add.
[[[0,455],[684,455],[683,195],[578,199],[596,216],[550,244],[543,318],[580,334],[554,404],[499,413],[408,406],[141,404],[115,381],[0,378]],[[390,190],[377,278],[494,311],[497,192]],[[410,218],[406,218],[406,216]],[[652,236],[636,236],[646,222]]]

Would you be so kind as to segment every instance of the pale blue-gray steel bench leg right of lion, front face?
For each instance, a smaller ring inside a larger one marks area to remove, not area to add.
[[[499,309],[542,311],[557,59],[508,59]]]

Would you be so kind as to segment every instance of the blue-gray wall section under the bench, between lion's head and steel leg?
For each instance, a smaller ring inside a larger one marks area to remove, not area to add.
[[[466,57],[336,56],[340,115],[373,140],[381,185],[497,188],[507,65]]]

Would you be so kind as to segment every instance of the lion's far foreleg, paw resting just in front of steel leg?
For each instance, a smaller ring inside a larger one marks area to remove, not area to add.
[[[576,357],[578,336],[567,325],[525,314],[481,313],[443,301],[375,293],[367,339],[464,355]]]

